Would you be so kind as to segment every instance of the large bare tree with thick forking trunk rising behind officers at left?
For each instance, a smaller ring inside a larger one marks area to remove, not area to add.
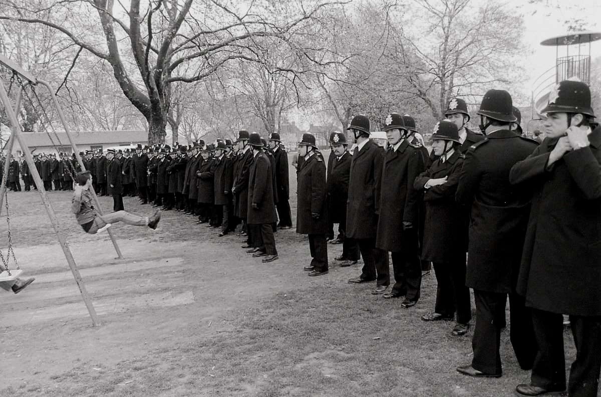
[[[129,8],[120,3],[123,9],[115,10],[114,0],[7,3],[0,20],[48,26],[108,61],[124,95],[146,118],[153,143],[166,135],[172,83],[201,81],[232,60],[261,62],[254,38],[287,45],[323,13],[343,4],[273,1],[234,7],[222,0],[151,0],[144,7],[132,0]],[[97,14],[97,23],[88,22],[91,13]],[[315,62],[313,53],[295,52]]]

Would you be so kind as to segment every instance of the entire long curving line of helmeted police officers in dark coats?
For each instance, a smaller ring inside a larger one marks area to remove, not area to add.
[[[501,377],[508,300],[517,363],[532,371],[531,381],[516,391],[535,396],[567,389],[569,396],[595,397],[601,371],[601,128],[582,82],[560,82],[542,112],[542,143],[522,136],[519,111],[503,90],[484,95],[480,132],[467,128],[465,101],[452,99],[433,128],[432,152],[418,139],[415,120],[398,113],[381,123],[385,148],[370,140],[365,115],[353,117],[348,130],[354,144],[346,134],[332,133],[327,161],[316,138],[304,134],[293,163],[296,232],[309,238],[308,275],[328,274],[328,241],[341,244],[335,257],[340,266],[363,259],[361,273],[349,283],[375,282],[372,294],[400,298],[404,309],[418,302],[423,262],[431,262],[436,303],[421,319],[454,319],[456,336],[469,331],[473,289],[473,357],[457,368],[461,374]],[[40,160],[50,164],[40,168],[49,170],[44,183],[66,188],[64,169],[76,170],[76,164],[61,156],[61,171],[56,159]],[[139,144],[135,153],[87,153],[84,165],[95,190],[114,197],[115,211],[123,209],[123,194],[138,195],[141,204],[198,217],[219,236],[242,224],[243,248],[263,262],[278,259],[274,231],[291,227],[288,158],[276,133],[264,139],[243,130],[235,142],[215,144]],[[568,383],[563,315],[569,315],[577,352]]]

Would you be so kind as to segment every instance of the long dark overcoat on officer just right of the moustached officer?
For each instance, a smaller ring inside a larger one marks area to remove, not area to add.
[[[361,150],[355,149],[350,163],[346,235],[355,239],[375,238],[383,151],[373,141],[367,141]]]

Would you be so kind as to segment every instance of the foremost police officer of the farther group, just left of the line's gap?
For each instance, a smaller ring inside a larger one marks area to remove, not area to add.
[[[257,132],[249,134],[248,145],[251,147],[252,164],[248,171],[248,208],[246,221],[255,230],[255,248],[253,257],[264,256],[263,262],[278,259],[275,248],[272,223],[277,220],[273,202],[273,177],[271,162],[263,153],[263,142]]]

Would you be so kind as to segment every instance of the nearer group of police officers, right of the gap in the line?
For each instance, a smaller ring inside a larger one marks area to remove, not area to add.
[[[391,253],[395,284],[383,296],[403,297],[403,308],[419,299],[420,257],[432,261],[435,310],[422,319],[457,315],[455,335],[469,329],[472,288],[474,355],[457,368],[464,375],[501,377],[509,298],[511,344],[520,368],[532,372],[517,393],[567,387],[569,396],[593,397],[601,371],[601,128],[582,82],[560,82],[543,113],[547,138],[539,145],[521,136],[507,91],[483,97],[483,134],[465,127],[465,102],[453,99],[447,119],[435,126],[430,156],[416,143],[409,117],[388,115],[382,150],[369,140],[368,118],[358,115],[349,126],[352,156],[344,134],[332,134],[327,171],[314,137],[305,134],[297,232],[310,236],[313,260],[305,269],[326,274],[329,222],[340,223],[337,259],[354,262],[358,247],[364,266],[349,282],[376,281],[373,294],[389,285]],[[567,384],[562,314],[569,315],[576,345]]]

